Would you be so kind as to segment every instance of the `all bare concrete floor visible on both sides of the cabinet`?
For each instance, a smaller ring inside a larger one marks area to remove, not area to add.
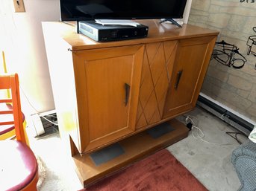
[[[187,138],[167,149],[208,190],[238,190],[240,181],[231,164],[231,152],[239,144],[225,133],[234,132],[234,129],[200,108],[196,108],[188,114],[193,116],[193,121],[204,132],[204,139],[212,143],[196,139],[190,132]],[[178,119],[184,121],[185,118],[181,116]],[[196,135],[195,129],[193,133]],[[81,190],[82,186],[72,167],[72,161],[66,157],[67,153],[58,134],[43,139],[32,138],[31,147],[46,168],[46,179],[40,187],[40,191]]]

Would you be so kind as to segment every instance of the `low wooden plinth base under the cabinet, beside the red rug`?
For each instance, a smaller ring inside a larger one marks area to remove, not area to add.
[[[125,153],[99,166],[94,164],[92,158],[90,158],[90,154],[82,156],[79,154],[74,155],[72,158],[75,162],[76,172],[81,183],[84,184],[84,187],[88,187],[106,175],[125,168],[125,166],[133,164],[187,137],[189,130],[183,123],[178,120],[170,120],[168,123],[172,126],[173,130],[166,132],[166,134],[160,137],[153,138],[147,132],[140,132],[137,135],[119,141]]]

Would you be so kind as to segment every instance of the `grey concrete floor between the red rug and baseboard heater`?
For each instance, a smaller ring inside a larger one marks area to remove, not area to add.
[[[238,190],[240,181],[231,164],[231,152],[239,146],[239,143],[225,133],[234,132],[235,129],[200,108],[196,108],[188,114],[198,119],[198,126],[205,134],[203,139],[211,143],[194,138],[190,132],[187,138],[169,146],[168,150],[208,190]],[[179,117],[179,119],[184,121],[184,117]],[[196,123],[196,120],[194,121]],[[193,133],[196,135],[196,129],[193,130]],[[244,141],[245,139],[245,137],[240,137],[240,140]]]

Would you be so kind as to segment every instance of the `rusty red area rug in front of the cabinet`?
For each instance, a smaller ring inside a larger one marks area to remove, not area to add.
[[[84,191],[207,191],[166,149],[104,178]]]

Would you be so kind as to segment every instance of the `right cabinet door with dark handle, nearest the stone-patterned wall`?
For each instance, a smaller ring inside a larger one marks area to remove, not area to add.
[[[196,106],[207,71],[215,36],[182,39],[166,97],[165,116],[175,116]]]

